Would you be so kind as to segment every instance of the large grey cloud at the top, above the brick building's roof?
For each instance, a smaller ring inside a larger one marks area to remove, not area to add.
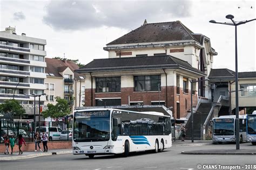
[[[131,29],[143,24],[190,16],[189,1],[51,1],[44,23],[56,30],[84,30],[100,26]],[[138,24],[139,23],[139,24]]]

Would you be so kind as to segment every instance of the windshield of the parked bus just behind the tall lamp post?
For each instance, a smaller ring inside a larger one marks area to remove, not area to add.
[[[234,119],[214,119],[213,121],[214,135],[233,135],[234,134]]]

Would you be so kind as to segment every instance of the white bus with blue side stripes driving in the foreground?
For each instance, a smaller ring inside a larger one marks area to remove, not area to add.
[[[172,146],[171,117],[159,112],[133,112],[112,108],[73,113],[73,154],[122,154]]]

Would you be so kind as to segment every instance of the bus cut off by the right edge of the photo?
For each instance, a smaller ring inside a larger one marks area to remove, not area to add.
[[[256,111],[253,114],[247,114],[247,141],[256,145]]]

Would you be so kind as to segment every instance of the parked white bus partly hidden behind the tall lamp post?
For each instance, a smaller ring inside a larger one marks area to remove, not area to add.
[[[215,142],[235,142],[235,115],[223,115],[213,118],[212,141]],[[239,137],[240,142],[246,139],[246,115],[239,115]]]

